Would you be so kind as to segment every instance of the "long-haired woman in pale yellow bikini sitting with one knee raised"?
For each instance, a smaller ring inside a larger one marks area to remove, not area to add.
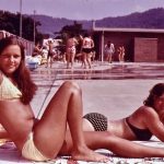
[[[30,105],[36,89],[25,67],[22,43],[16,37],[2,38],[0,124],[4,129],[0,138],[11,139],[23,157],[42,162],[69,154],[73,160],[107,162],[107,156],[93,151],[96,149],[129,157],[164,157],[164,149],[140,145],[108,131],[83,131],[82,91],[72,81],[61,84],[42,118],[36,119]]]

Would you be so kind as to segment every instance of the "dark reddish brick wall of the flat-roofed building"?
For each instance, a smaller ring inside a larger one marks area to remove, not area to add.
[[[94,34],[96,34],[95,44],[98,47],[96,52],[97,58],[99,58],[102,54],[102,32],[95,32]],[[138,39],[138,44],[134,44],[134,39],[136,42]],[[126,61],[164,62],[164,33],[104,32],[104,43],[107,40],[112,40],[116,49],[120,45],[125,46]],[[114,60],[118,61],[117,51],[114,55]]]

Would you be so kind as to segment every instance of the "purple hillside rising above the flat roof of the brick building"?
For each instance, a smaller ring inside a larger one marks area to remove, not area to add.
[[[164,28],[164,9],[152,9],[126,16],[105,17],[96,21],[96,25],[102,27]]]

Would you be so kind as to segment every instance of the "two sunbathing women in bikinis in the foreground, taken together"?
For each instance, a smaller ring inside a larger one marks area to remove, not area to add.
[[[130,116],[108,120],[97,113],[83,116],[82,91],[78,83],[61,84],[40,119],[31,101],[37,86],[25,66],[22,43],[16,37],[0,40],[0,138],[10,138],[23,157],[48,161],[57,155],[73,160],[107,162],[96,153],[107,149],[120,156],[164,157],[163,148],[147,147],[133,140],[164,141],[164,83],[155,84],[143,106]],[[150,121],[151,120],[151,121]]]

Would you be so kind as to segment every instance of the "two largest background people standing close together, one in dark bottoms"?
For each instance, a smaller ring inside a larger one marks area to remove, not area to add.
[[[79,45],[79,52],[77,51],[77,46]],[[74,34],[71,34],[67,40],[66,56],[67,56],[67,68],[73,68],[75,55],[81,57],[82,67],[91,69],[92,67],[92,55],[94,55],[94,40],[87,33],[84,36],[80,35],[79,40],[75,38]]]

